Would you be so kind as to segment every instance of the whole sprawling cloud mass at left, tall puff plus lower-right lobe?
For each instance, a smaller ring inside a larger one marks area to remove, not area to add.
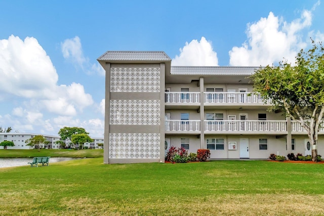
[[[0,50],[2,95],[30,99],[33,109],[43,107],[61,115],[76,115],[77,111],[93,104],[92,96],[85,93],[83,85],[74,82],[57,85],[56,69],[37,39],[21,40],[11,35],[0,40]],[[15,108],[13,114],[21,116],[22,108]]]

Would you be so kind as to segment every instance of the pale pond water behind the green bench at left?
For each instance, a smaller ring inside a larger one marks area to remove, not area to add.
[[[76,160],[81,158],[72,158],[72,157],[51,157],[50,164],[54,162],[66,161],[66,160]],[[3,167],[12,167],[12,166],[30,166],[28,162],[32,161],[30,158],[0,158],[0,168]]]

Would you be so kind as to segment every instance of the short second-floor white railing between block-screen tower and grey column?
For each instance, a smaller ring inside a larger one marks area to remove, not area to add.
[[[198,132],[200,120],[166,120],[166,131]]]

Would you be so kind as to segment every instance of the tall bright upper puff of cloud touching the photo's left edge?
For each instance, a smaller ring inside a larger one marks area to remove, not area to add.
[[[33,37],[0,40],[0,92],[25,98],[52,95],[58,80],[50,57]]]

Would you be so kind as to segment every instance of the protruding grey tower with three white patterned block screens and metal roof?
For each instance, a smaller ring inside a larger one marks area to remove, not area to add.
[[[104,163],[163,162],[171,59],[164,52],[108,51],[98,61],[106,71]]]

